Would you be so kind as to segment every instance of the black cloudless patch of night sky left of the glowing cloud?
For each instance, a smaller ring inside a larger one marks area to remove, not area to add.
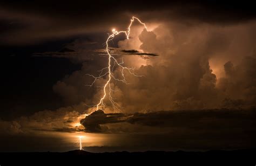
[[[58,108],[59,97],[52,92],[52,85],[72,71],[79,70],[79,64],[68,59],[31,57],[38,50],[55,51],[63,41],[33,46],[8,46],[3,50],[1,65],[1,117],[9,119],[23,114],[29,115],[35,109]]]

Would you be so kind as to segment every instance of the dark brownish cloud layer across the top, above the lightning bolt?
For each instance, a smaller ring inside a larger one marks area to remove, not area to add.
[[[146,22],[193,20],[229,24],[254,19],[250,3],[223,1],[153,2],[2,2],[2,44],[33,44],[43,40],[125,29],[132,15]],[[106,14],[107,13],[107,14]]]

